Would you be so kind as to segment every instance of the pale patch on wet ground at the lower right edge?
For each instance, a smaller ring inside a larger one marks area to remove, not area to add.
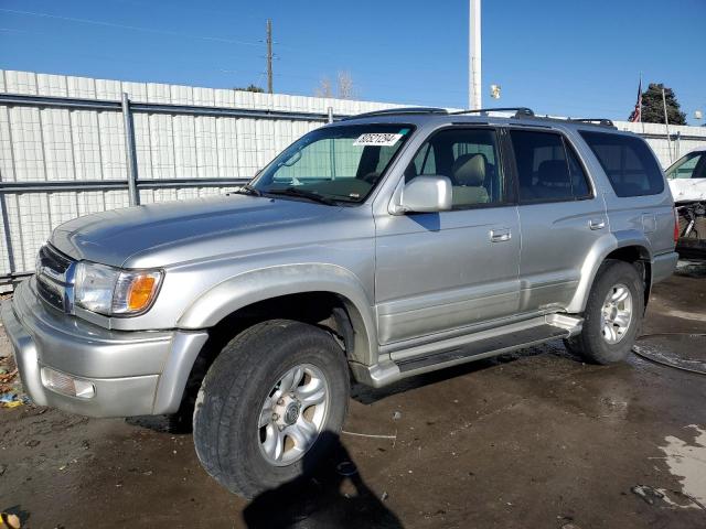
[[[682,494],[692,500],[688,507],[706,509],[706,430],[696,424],[685,430],[694,435],[693,441],[667,435],[666,446],[660,450],[665,454],[670,473],[680,478]]]

